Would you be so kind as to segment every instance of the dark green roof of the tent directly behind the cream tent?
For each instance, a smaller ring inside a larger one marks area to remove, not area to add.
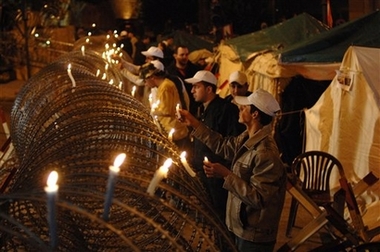
[[[281,52],[282,64],[341,62],[350,46],[380,47],[380,11],[299,41]]]

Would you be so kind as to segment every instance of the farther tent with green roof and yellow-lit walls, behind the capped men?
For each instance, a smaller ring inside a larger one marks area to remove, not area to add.
[[[267,29],[225,41],[218,47],[219,95],[229,94],[225,84],[230,73],[242,70],[247,74],[250,91],[263,88],[279,97],[297,72],[278,64],[277,51],[327,30],[320,21],[303,13]]]

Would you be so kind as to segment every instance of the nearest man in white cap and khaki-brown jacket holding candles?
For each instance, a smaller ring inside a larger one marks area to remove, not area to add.
[[[280,106],[262,89],[248,97],[237,96],[239,122],[247,130],[223,137],[188,111],[181,120],[193,127],[191,135],[216,154],[231,160],[231,167],[204,161],[207,177],[224,179],[228,190],[226,225],[235,235],[239,251],[273,251],[286,192],[286,169],[272,137],[271,122]]]

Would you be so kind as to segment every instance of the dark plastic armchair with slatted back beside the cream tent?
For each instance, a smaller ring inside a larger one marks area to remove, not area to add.
[[[338,169],[340,177],[345,177],[342,164],[337,158],[323,151],[308,151],[298,155],[292,162],[292,178],[301,183],[304,191],[318,206],[333,204],[338,213],[343,212],[344,197],[335,202],[330,191],[330,175]],[[299,202],[292,198],[286,236],[290,237],[295,224]]]

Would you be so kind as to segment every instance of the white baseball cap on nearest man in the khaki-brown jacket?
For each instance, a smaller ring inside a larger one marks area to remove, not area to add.
[[[235,102],[239,105],[254,105],[267,115],[275,116],[280,111],[280,105],[268,91],[257,89],[249,96],[235,96]]]

